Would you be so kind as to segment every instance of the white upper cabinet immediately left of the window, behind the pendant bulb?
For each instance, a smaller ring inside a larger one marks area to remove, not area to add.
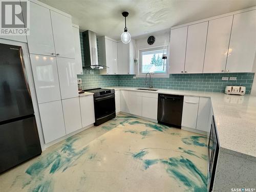
[[[135,74],[134,52],[134,39],[129,44],[117,43],[118,74]]]

